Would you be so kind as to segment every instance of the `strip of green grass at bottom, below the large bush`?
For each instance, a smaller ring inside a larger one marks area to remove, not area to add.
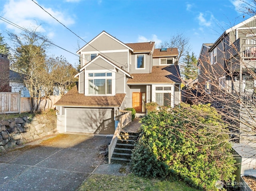
[[[132,174],[115,176],[93,174],[86,179],[77,191],[199,191],[182,181],[161,181],[147,179]]]

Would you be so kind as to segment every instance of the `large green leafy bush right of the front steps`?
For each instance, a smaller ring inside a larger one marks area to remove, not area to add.
[[[144,177],[182,178],[204,190],[234,180],[226,124],[207,105],[160,108],[142,118],[131,169]]]

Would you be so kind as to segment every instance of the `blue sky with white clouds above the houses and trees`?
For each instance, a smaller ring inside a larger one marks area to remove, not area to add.
[[[74,66],[79,47],[103,30],[123,43],[155,41],[156,47],[183,33],[190,39],[190,53],[198,57],[203,43],[214,43],[248,18],[239,12],[239,0],[0,0],[0,33],[6,43],[6,31],[22,31],[3,20],[27,29],[39,26],[37,32],[73,53],[53,46],[47,55],[62,55]]]

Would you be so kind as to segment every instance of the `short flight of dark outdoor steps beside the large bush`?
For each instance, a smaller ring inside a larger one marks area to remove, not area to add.
[[[129,162],[132,156],[134,143],[138,137],[138,133],[120,132],[120,136],[118,137],[111,161],[115,163]]]

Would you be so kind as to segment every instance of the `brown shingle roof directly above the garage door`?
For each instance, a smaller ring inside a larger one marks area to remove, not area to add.
[[[80,106],[80,107],[120,107],[126,94],[115,96],[85,96],[73,87],[66,95],[58,100],[56,106]]]

